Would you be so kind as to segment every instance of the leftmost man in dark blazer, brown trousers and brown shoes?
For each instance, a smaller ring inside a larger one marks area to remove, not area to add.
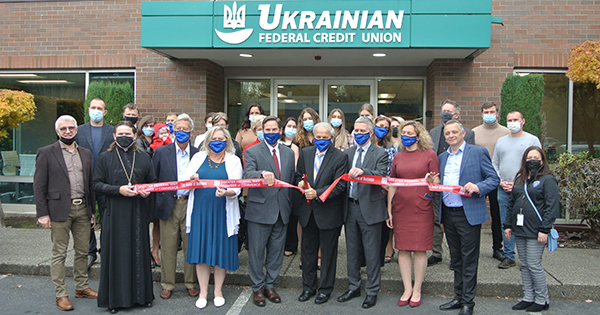
[[[63,115],[55,123],[60,140],[38,149],[33,175],[38,222],[52,231],[50,273],[56,290],[56,304],[62,311],[73,309],[65,284],[65,260],[69,232],[73,234],[73,276],[75,297],[95,299],[90,288],[86,253],[90,223],[94,226],[95,199],[92,189],[92,154],[74,141],[75,118]]]

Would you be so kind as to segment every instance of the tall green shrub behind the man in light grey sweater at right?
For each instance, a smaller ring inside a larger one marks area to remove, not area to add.
[[[502,84],[500,124],[506,126],[506,115],[518,110],[525,117],[523,130],[542,139],[542,98],[544,97],[544,77],[541,75],[511,75]]]

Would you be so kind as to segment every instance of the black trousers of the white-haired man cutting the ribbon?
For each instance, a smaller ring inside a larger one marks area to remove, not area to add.
[[[321,286],[319,293],[331,294],[335,284],[338,239],[341,226],[321,230],[311,213],[306,227],[302,229],[302,290],[317,292],[317,260],[321,247]]]

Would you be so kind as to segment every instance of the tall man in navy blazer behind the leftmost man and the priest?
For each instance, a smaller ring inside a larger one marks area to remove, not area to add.
[[[108,150],[108,147],[114,141],[112,134],[115,128],[104,123],[104,115],[106,115],[106,113],[106,103],[101,98],[95,98],[90,101],[90,107],[88,108],[90,122],[78,127],[79,134],[76,141],[78,145],[92,152],[92,170],[96,168],[98,155]],[[104,212],[104,196],[102,194],[97,194],[96,201],[98,202],[100,218],[102,218],[102,213]],[[94,214],[95,213],[96,209],[94,205]],[[90,268],[96,259],[98,259],[96,244],[96,233],[94,233],[94,229],[92,228],[90,231],[90,245],[88,250],[88,268]]]

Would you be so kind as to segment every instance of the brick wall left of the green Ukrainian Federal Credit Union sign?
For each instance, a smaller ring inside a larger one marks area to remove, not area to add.
[[[223,68],[140,47],[141,0],[0,4],[0,69],[135,69],[142,114],[224,109]],[[209,84],[207,84],[209,82]]]

